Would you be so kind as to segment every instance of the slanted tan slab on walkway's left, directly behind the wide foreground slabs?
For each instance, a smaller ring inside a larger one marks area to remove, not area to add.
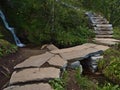
[[[14,69],[28,68],[28,67],[40,67],[53,56],[54,54],[51,54],[49,52],[46,52],[44,54],[37,55],[37,56],[32,56],[26,59],[24,62],[16,65]]]

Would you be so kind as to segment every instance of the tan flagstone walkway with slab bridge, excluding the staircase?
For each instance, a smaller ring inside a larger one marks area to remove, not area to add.
[[[81,60],[101,54],[108,46],[86,43],[83,45],[58,49],[54,45],[45,45],[47,52],[31,56],[14,67],[9,85],[3,90],[53,90],[49,80],[60,78],[66,67],[80,68]]]

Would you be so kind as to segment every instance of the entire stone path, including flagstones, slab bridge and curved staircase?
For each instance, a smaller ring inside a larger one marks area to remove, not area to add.
[[[100,15],[86,13],[94,27],[98,44],[113,45],[119,40],[113,39],[113,27]],[[60,78],[62,71],[68,65],[71,68],[82,66],[80,61],[90,57],[89,66],[93,72],[97,68],[97,60],[103,58],[101,53],[109,49],[109,46],[86,43],[71,48],[58,49],[54,45],[44,45],[47,52],[41,55],[31,56],[14,67],[9,85],[4,90],[53,90],[49,80]]]

